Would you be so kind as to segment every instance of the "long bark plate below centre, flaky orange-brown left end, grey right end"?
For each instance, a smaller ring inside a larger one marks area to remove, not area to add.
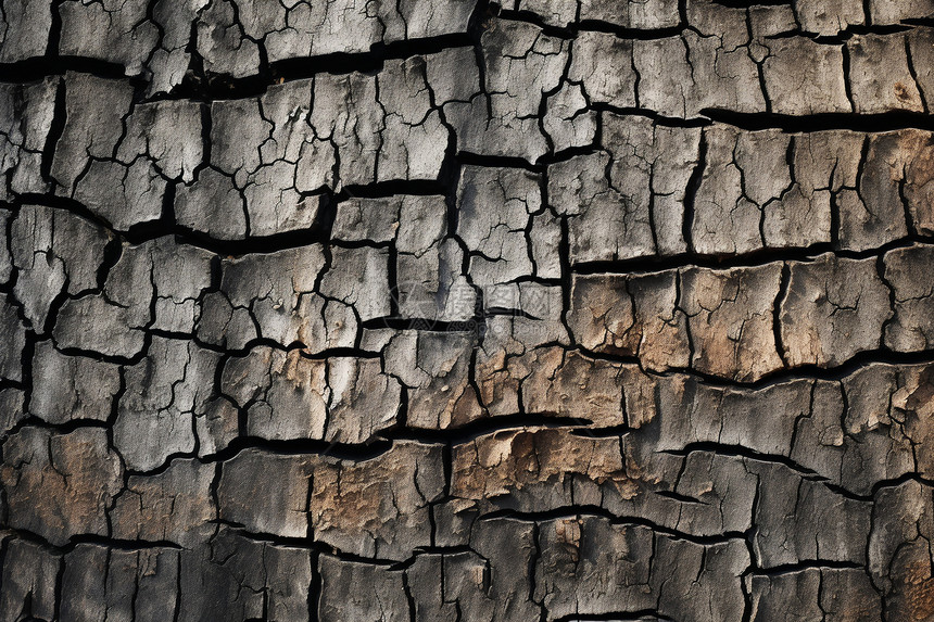
[[[513,479],[513,472],[522,477]],[[710,535],[748,529],[755,478],[741,461],[717,455],[659,460],[640,456],[638,448],[620,452],[615,437],[540,429],[497,432],[455,447],[451,491],[474,502],[459,512],[470,507],[532,512],[577,503]]]

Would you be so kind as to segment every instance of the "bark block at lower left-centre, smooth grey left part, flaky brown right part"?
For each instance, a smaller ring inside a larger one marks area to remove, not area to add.
[[[248,449],[222,468],[219,515],[251,532],[313,534],[339,550],[401,560],[431,544],[428,505],[443,488],[440,459],[439,447],[412,443],[359,464]]]

